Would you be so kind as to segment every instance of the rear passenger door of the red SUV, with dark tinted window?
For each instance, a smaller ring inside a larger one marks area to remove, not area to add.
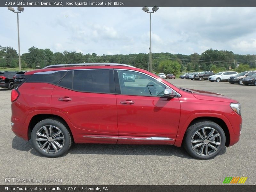
[[[76,143],[116,143],[113,69],[69,71],[52,92],[52,113],[72,122]]]

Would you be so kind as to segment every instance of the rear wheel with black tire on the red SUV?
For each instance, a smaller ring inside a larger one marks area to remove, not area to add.
[[[51,126],[52,128],[50,128]],[[45,131],[45,129],[47,130],[47,132]],[[50,131],[50,129],[52,131]],[[59,133],[59,131],[60,134],[56,134]],[[51,137],[50,135],[47,135],[47,133],[52,133]],[[39,136],[38,134],[44,136]],[[47,137],[45,137],[46,135]],[[72,145],[72,139],[70,132],[68,131],[67,125],[55,118],[47,118],[37,123],[32,130],[31,140],[36,151],[46,157],[62,156],[68,151],[68,149]],[[41,146],[42,148],[40,149],[39,146]],[[54,146],[56,149],[54,148]]]

